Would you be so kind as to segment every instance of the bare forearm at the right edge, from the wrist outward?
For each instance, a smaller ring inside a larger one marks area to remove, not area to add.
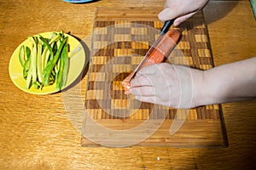
[[[256,97],[256,57],[204,71],[201,96],[207,104]]]

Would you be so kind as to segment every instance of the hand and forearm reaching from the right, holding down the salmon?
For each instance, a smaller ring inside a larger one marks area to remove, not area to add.
[[[131,79],[129,92],[144,102],[188,109],[256,98],[256,57],[207,71],[160,63]]]

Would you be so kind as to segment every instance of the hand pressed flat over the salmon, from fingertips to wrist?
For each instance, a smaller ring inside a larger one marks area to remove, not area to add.
[[[144,67],[131,80],[130,93],[143,102],[174,108],[195,107],[203,71],[160,63]],[[193,80],[193,81],[192,81]]]

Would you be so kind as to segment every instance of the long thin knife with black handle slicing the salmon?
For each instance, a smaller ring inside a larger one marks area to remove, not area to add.
[[[129,80],[128,82],[131,82],[131,79],[132,79],[133,77],[135,77],[135,75],[137,74],[137,71],[139,71],[139,70],[142,68],[143,64],[144,64],[145,61],[148,59],[149,54],[151,54],[152,51],[154,50],[154,47],[156,47],[156,46],[159,44],[159,42],[160,42],[160,40],[161,40],[161,37],[163,37],[163,36],[166,34],[166,32],[169,30],[169,28],[172,26],[173,21],[174,21],[174,20],[166,20],[164,26],[163,26],[162,29],[160,30],[160,35],[159,35],[159,37],[156,38],[156,40],[155,40],[155,42],[153,43],[153,45],[148,49],[147,54],[145,54],[145,56],[144,56],[143,60],[140,62],[140,64],[137,65],[137,68],[133,71],[133,73],[132,73],[132,75],[131,75],[131,77],[130,77],[130,80]]]

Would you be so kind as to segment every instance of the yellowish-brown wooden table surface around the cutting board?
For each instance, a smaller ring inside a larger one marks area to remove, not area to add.
[[[85,148],[80,146],[79,127],[67,114],[63,94],[26,94],[9,78],[11,54],[28,35],[63,30],[88,39],[96,7],[161,7],[163,4],[164,0],[99,0],[83,4],[61,0],[0,2],[0,169],[255,167],[255,100],[223,105],[227,148]],[[204,12],[215,65],[256,55],[256,22],[248,1],[211,1]],[[73,90],[70,95],[84,100],[86,78],[84,75],[70,89]],[[74,112],[79,115],[83,111],[78,108]]]

